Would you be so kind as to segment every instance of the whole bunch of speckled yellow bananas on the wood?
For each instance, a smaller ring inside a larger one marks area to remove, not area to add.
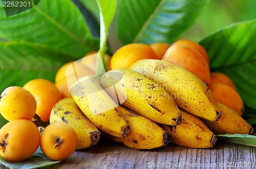
[[[70,93],[73,99],[58,102],[50,122],[73,125],[78,134],[86,135],[79,142],[84,147],[97,143],[93,139],[99,138],[99,131],[138,150],[169,142],[211,148],[215,134],[253,133],[241,116],[216,101],[197,76],[161,60],[143,59],[129,69],[78,79]],[[89,124],[96,128],[86,127]]]

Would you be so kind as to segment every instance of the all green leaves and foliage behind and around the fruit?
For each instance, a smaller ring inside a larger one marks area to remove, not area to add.
[[[35,78],[54,82],[61,65],[91,51],[103,56],[127,43],[171,44],[185,38],[205,47],[211,71],[234,81],[246,106],[243,117],[256,124],[255,8],[255,0],[41,0],[6,17],[0,3],[0,92]],[[0,126],[5,123],[0,116]],[[243,135],[218,137],[243,144],[249,140]],[[34,163],[32,157],[32,166],[51,165],[40,153],[35,156],[46,161]],[[13,168],[24,165],[0,160]]]

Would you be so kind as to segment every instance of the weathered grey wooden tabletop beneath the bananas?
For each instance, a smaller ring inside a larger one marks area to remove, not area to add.
[[[170,143],[154,150],[133,150],[102,138],[96,146],[47,168],[256,168],[255,157],[255,147],[228,142],[211,149]]]

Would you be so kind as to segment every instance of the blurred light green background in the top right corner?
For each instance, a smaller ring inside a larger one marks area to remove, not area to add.
[[[255,19],[255,8],[256,1],[254,0],[211,0],[205,6],[197,23],[181,38],[198,41],[203,36],[234,22]]]

